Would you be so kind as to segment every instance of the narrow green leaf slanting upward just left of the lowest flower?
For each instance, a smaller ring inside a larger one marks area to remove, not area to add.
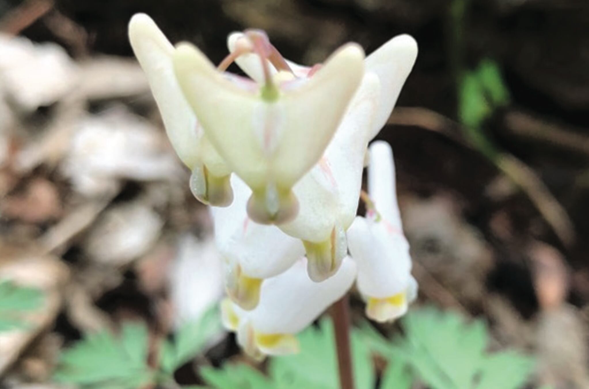
[[[174,336],[174,341],[166,341],[161,347],[162,370],[173,373],[203,350],[211,337],[220,330],[221,321],[217,307],[211,307],[198,321],[185,322]]]

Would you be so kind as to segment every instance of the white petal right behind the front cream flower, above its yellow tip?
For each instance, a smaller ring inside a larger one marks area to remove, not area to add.
[[[329,237],[334,225],[346,230],[352,223],[378,95],[378,78],[365,75],[323,158],[294,186],[299,214],[292,222],[280,225],[287,234],[321,242]]]

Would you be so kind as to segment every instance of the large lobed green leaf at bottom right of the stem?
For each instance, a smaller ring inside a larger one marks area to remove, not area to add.
[[[405,337],[389,342],[388,352],[379,345],[377,352],[388,357],[389,363],[406,363],[434,389],[517,389],[534,366],[532,358],[515,351],[488,354],[484,322],[467,323],[454,312],[413,310],[402,320],[402,326]],[[366,328],[362,336],[372,339],[367,343],[372,348],[378,338],[383,339]]]

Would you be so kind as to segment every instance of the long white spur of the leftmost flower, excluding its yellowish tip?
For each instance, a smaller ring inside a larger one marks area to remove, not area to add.
[[[129,22],[129,39],[135,56],[145,71],[170,142],[178,157],[192,169],[200,162],[198,145],[202,132],[174,75],[174,46],[145,14],[135,14]]]

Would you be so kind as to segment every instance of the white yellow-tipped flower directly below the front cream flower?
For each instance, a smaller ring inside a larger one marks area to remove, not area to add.
[[[275,225],[252,221],[246,212],[251,189],[235,175],[231,185],[233,204],[211,208],[215,241],[226,262],[227,294],[241,308],[251,310],[259,301],[264,278],[286,271],[305,255],[305,248]]]

